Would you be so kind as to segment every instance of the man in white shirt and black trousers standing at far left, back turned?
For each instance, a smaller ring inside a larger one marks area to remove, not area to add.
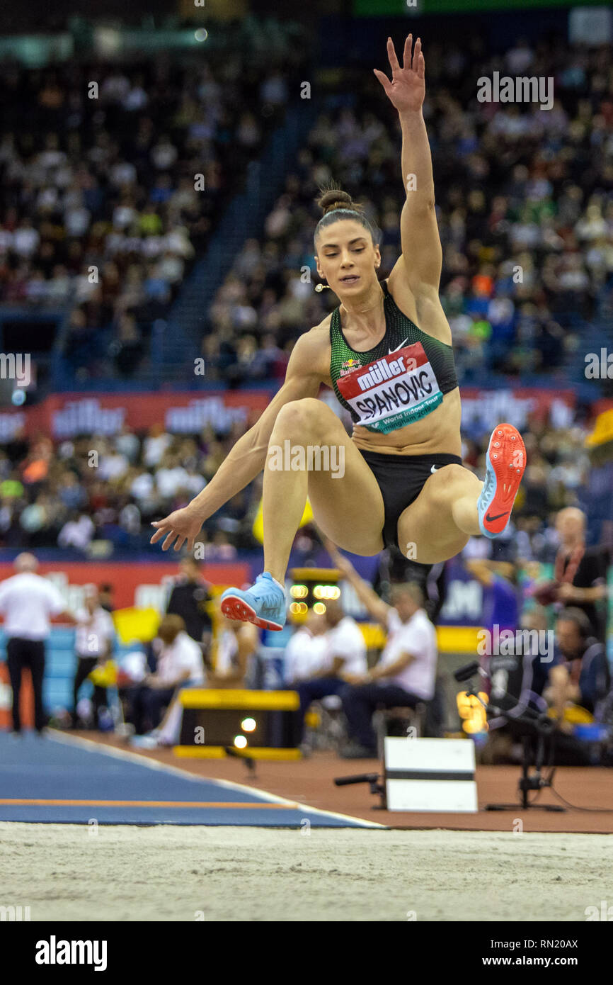
[[[15,558],[17,574],[0,582],[0,614],[4,616],[7,636],[7,664],[13,689],[13,731],[17,735],[22,730],[19,698],[24,667],[29,667],[31,672],[34,728],[40,734],[46,724],[42,680],[49,619],[62,616],[74,623],[55,585],[36,574],[37,566],[38,561],[33,555],[21,554]]]

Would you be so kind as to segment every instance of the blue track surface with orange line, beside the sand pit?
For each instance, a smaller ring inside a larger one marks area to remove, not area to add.
[[[25,733],[21,739],[0,733],[0,821],[300,827],[307,820],[313,827],[371,826],[151,763],[52,733],[41,738]],[[23,801],[85,803],[18,803]],[[92,803],[99,801],[122,803]],[[182,806],[186,803],[195,806]]]

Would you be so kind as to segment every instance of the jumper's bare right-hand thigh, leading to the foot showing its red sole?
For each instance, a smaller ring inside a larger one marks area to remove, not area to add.
[[[424,484],[421,492],[398,517],[398,545],[406,558],[422,564],[438,564],[455,558],[468,543],[452,513],[455,495],[474,487],[475,498],[480,483],[461,465],[446,465]]]

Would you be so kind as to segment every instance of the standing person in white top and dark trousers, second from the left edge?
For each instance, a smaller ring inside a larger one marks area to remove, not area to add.
[[[75,652],[77,667],[73,682],[73,728],[77,727],[77,702],[79,690],[92,673],[94,667],[109,659],[112,652],[115,629],[113,621],[100,605],[99,593],[93,585],[85,592],[84,607],[75,614],[77,631],[75,633]],[[106,705],[106,689],[93,687],[93,722],[97,723],[99,708]]]

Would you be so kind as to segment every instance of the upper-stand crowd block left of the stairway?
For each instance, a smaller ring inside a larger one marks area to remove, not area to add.
[[[78,380],[147,363],[153,322],[282,118],[301,51],[276,27],[266,51],[0,65],[0,303],[70,306]]]

